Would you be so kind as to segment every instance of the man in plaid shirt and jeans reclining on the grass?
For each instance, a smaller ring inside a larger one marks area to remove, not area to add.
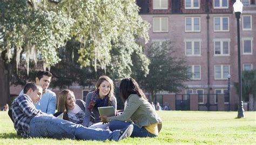
[[[119,141],[129,137],[133,126],[128,126],[113,132],[103,129],[86,128],[70,121],[58,119],[53,115],[36,109],[35,103],[41,99],[42,87],[35,82],[29,82],[24,87],[24,93],[12,102],[12,118],[18,135],[23,137],[52,137],[54,139],[80,140],[114,140]]]

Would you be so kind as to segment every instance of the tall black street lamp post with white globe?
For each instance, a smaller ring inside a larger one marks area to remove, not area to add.
[[[237,18],[237,47],[238,47],[238,78],[239,78],[239,107],[237,118],[244,118],[244,107],[242,102],[242,78],[241,78],[241,52],[240,52],[240,18],[242,13],[242,3],[240,0],[233,4],[235,17]]]

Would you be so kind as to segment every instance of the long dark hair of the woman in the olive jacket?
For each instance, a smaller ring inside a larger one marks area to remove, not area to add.
[[[131,94],[137,94],[146,99],[145,94],[133,78],[124,78],[119,86],[119,92],[123,101],[126,101]]]

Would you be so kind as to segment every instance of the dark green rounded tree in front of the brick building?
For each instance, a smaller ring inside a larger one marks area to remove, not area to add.
[[[145,91],[150,92],[152,100],[160,91],[178,92],[187,81],[187,66],[183,58],[174,57],[171,42],[153,43],[147,49],[151,63],[146,77],[135,76]],[[151,100],[150,100],[151,101]]]

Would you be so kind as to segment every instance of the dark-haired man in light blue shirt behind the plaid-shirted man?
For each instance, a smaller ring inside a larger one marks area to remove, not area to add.
[[[36,103],[36,108],[47,114],[54,114],[56,109],[56,94],[48,89],[52,74],[48,71],[38,71],[36,84],[43,88],[42,99]],[[23,94],[23,90],[19,95]]]

